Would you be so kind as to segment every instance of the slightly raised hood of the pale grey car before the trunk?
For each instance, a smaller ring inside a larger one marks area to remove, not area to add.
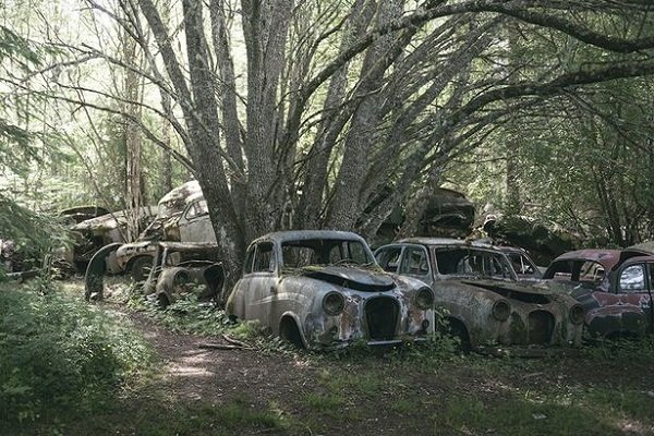
[[[350,266],[325,266],[302,268],[301,274],[316,280],[358,291],[384,292],[396,288],[391,276],[384,272]]]

